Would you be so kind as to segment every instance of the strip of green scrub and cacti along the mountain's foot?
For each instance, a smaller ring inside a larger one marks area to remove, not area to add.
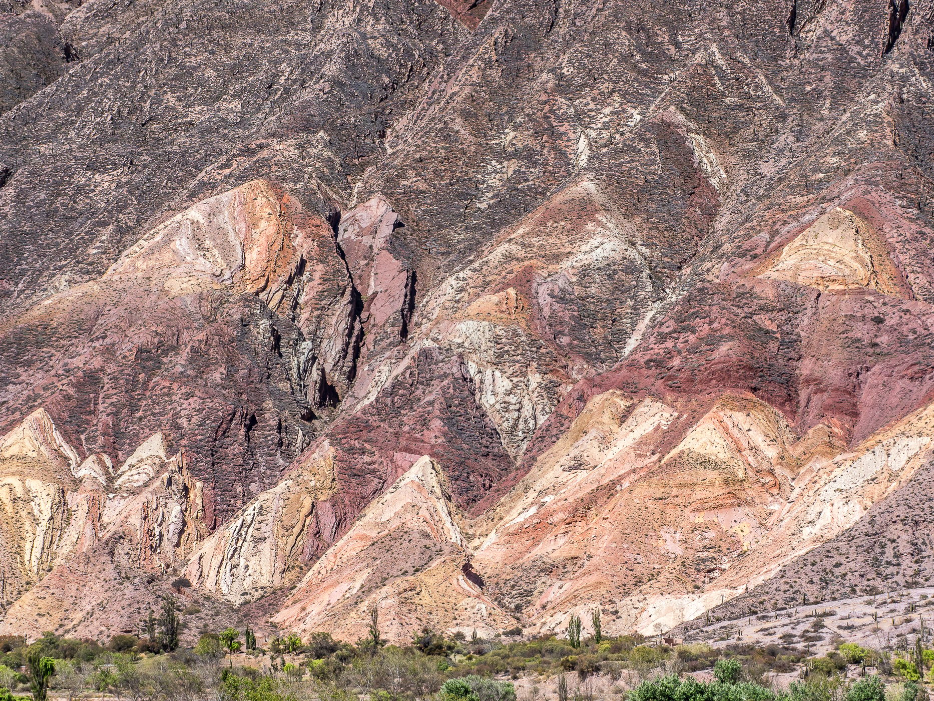
[[[142,622],[141,635],[102,645],[46,634],[0,637],[0,701],[922,701],[934,651],[900,641],[873,650],[838,641],[808,656],[797,647],[664,645],[639,636],[484,639],[425,629],[388,645],[374,617],[356,644],[327,633],[257,644],[249,628],[202,631],[180,644],[175,602]]]

